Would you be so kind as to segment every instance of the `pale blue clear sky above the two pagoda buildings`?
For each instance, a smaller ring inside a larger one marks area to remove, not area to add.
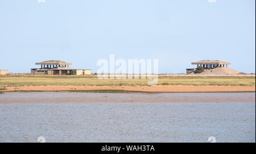
[[[159,59],[159,73],[198,60],[255,73],[255,0],[0,0],[0,69],[63,60],[97,72],[110,54]]]

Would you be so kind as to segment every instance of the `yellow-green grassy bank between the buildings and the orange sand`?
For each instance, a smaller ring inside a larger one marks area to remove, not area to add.
[[[0,89],[7,86],[76,85],[143,86],[150,80],[98,79],[96,76],[0,76]],[[158,85],[255,86],[255,77],[159,77]]]

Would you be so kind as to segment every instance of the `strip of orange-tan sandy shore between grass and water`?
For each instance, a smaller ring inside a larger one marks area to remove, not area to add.
[[[255,91],[255,86],[19,86],[1,91],[76,91],[76,90],[125,90],[142,92],[240,92]]]

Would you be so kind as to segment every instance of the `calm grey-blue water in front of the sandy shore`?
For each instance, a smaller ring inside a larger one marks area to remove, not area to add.
[[[255,93],[0,94],[0,141],[39,136],[46,142],[208,142],[209,136],[255,142]]]

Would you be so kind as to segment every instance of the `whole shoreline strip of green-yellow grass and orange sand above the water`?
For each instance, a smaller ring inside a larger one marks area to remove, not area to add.
[[[255,76],[159,76],[148,79],[100,79],[96,76],[0,76],[4,91],[81,91],[94,93],[255,92]]]

